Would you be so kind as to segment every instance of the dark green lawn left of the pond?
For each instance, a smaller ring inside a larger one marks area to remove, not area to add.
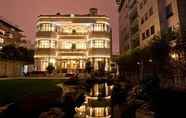
[[[16,102],[25,96],[44,96],[58,87],[62,80],[1,80],[0,104]]]

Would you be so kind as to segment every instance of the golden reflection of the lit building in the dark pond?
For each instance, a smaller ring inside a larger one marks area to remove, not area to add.
[[[94,84],[90,93],[86,96],[85,103],[76,108],[80,117],[110,118],[112,88],[113,85],[105,82]]]

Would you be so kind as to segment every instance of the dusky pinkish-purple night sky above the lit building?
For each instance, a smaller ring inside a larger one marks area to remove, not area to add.
[[[18,25],[27,39],[34,41],[37,16],[57,12],[87,14],[92,7],[98,8],[99,14],[111,18],[113,52],[118,52],[118,13],[115,0],[1,0],[0,17]]]

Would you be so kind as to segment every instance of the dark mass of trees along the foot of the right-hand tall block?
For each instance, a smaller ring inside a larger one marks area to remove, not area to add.
[[[144,48],[128,50],[119,59],[120,73],[135,75],[137,71],[142,73],[151,71],[166,78],[170,70],[170,41],[179,39],[179,33],[175,30],[165,30],[160,35],[155,35]],[[152,69],[152,70],[151,70]],[[143,71],[142,71],[143,70]],[[133,74],[131,74],[133,73]],[[140,77],[143,78],[142,76]]]

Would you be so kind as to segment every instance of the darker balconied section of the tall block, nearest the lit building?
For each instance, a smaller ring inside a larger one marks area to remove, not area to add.
[[[137,0],[123,0],[119,7],[120,54],[139,46]]]

